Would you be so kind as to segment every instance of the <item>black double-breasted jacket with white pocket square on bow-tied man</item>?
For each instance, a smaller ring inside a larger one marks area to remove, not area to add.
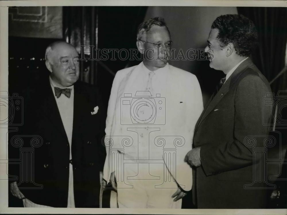
[[[99,106],[98,113],[92,115],[96,106]],[[71,143],[76,207],[99,207],[99,171],[102,171],[105,158],[101,144],[105,128],[102,111],[94,87],[77,81],[74,84]],[[20,134],[24,140],[24,145],[18,148],[18,156],[19,149],[21,153],[24,147],[31,148],[31,138],[27,137],[38,135],[42,139],[42,144],[32,147],[34,176],[29,178],[34,177],[33,181],[21,178],[21,171],[26,174],[29,170],[21,170],[19,165],[9,166],[9,173],[18,176],[18,183],[22,180],[18,185],[21,192],[36,204],[67,207],[70,147],[49,79],[24,96],[24,126],[19,132],[11,133],[11,138],[14,134]],[[15,147],[10,146],[11,154],[13,150]],[[14,153],[15,157],[17,153]],[[42,185],[42,189],[33,189],[37,184]]]

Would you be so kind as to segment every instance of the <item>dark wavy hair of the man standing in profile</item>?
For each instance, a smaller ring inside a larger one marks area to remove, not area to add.
[[[243,15],[221,15],[214,20],[211,28],[218,29],[217,39],[221,48],[232,43],[240,56],[248,57],[257,46],[257,30],[253,22]]]

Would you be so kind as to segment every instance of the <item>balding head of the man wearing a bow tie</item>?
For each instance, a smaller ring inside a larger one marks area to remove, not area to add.
[[[79,54],[64,41],[53,42],[46,48],[46,67],[52,80],[60,87],[73,85],[79,78]]]

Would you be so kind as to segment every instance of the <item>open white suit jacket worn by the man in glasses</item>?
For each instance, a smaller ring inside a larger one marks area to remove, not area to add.
[[[143,90],[134,83],[140,79],[143,83],[147,83],[148,76],[143,74],[144,64],[122,69],[116,73],[113,81],[110,99],[108,102],[108,111],[106,118],[106,160],[104,164],[103,178],[109,182],[111,168],[111,147],[115,142],[121,141],[119,136],[127,134],[126,127],[121,123],[121,100],[124,93]],[[155,71],[157,73],[157,70]],[[161,136],[165,136],[166,144],[157,145],[154,149],[160,150],[176,150],[176,167],[168,165],[168,156],[158,153],[164,164],[177,181],[177,183],[186,191],[192,187],[192,169],[190,165],[184,161],[186,153],[192,148],[193,132],[195,124],[203,110],[203,102],[201,89],[195,75],[182,69],[166,65],[162,79],[154,83],[153,88],[156,93],[160,93],[160,97],[164,97],[165,104],[165,124],[160,126],[157,133],[157,140]],[[159,83],[157,85],[157,83]],[[132,95],[134,96],[134,94]],[[162,112],[163,113],[163,112]],[[172,138],[170,138],[170,136]],[[112,142],[108,140],[112,139]],[[156,142],[156,140],[155,140]],[[160,141],[159,141],[160,142]],[[153,149],[151,149],[153,151]]]

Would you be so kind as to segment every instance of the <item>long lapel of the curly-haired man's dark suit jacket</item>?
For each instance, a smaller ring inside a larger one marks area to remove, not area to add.
[[[205,110],[197,121],[197,124],[195,126],[196,131],[199,125],[203,122],[203,120],[205,120],[205,118],[212,112],[214,107],[216,107],[216,105],[221,101],[221,99],[228,93],[231,86],[236,83],[236,80],[241,75],[241,73],[245,71],[248,67],[250,67],[252,64],[253,62],[250,60],[250,58],[247,58],[245,61],[243,61],[232,73],[229,79],[224,83],[224,85],[220,88],[216,96],[213,99],[210,98],[207,105],[205,106]]]

